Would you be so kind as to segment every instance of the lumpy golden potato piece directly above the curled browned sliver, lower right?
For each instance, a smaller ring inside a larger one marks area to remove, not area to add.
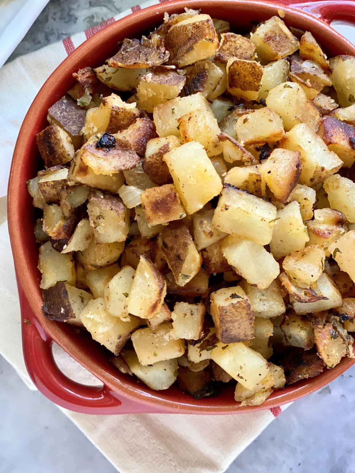
[[[324,270],[325,253],[317,246],[307,246],[284,258],[282,266],[293,284],[300,288],[309,288],[316,282]]]

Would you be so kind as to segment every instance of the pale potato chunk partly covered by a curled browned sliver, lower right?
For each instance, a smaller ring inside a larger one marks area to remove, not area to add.
[[[333,280],[329,278],[328,274],[323,272],[317,280],[317,287],[315,292],[326,299],[320,299],[316,302],[297,302],[290,297],[293,309],[298,315],[306,315],[310,313],[320,312],[322,310],[329,310],[333,307],[340,307],[342,305],[342,298],[339,289],[334,284]]]

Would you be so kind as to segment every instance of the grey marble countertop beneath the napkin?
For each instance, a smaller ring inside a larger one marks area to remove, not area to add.
[[[51,0],[9,60],[97,25],[138,0]],[[293,403],[227,473],[355,473],[355,366]],[[115,473],[67,417],[0,358],[0,473]],[[135,473],[135,472],[133,472]]]

